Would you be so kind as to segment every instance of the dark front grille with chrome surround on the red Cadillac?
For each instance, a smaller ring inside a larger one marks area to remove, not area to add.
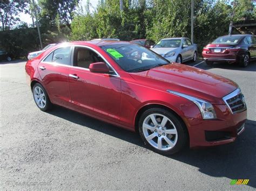
[[[244,95],[242,95],[240,89],[228,94],[223,98],[223,100],[228,105],[228,108],[231,110],[232,114],[246,110]]]

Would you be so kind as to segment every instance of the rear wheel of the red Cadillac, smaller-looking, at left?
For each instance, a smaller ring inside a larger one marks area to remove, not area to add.
[[[39,93],[43,93],[44,96],[42,94],[38,94],[38,89],[39,89]],[[35,101],[37,107],[41,111],[47,111],[47,110],[50,110],[52,108],[52,103],[49,99],[49,96],[48,96],[46,90],[44,89],[44,87],[40,83],[36,83],[33,86],[32,93],[33,93],[34,101]],[[40,95],[42,95],[42,96],[40,96]],[[44,103],[44,101],[45,101],[45,103]]]

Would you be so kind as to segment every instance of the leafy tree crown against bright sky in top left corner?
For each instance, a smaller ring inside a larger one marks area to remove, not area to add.
[[[27,5],[27,0],[2,0],[0,2],[2,31],[10,29],[19,21],[18,14],[23,11],[26,12]]]

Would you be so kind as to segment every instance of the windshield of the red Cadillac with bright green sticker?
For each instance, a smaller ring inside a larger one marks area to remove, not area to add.
[[[101,48],[126,72],[140,72],[170,63],[160,55],[137,44],[107,45]]]

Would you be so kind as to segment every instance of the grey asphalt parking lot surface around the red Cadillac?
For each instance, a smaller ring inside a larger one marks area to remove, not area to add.
[[[0,189],[255,190],[256,63],[247,68],[185,63],[237,82],[248,120],[236,142],[165,157],[136,133],[68,109],[42,112],[25,61],[0,62]],[[250,179],[248,185],[230,185]]]

